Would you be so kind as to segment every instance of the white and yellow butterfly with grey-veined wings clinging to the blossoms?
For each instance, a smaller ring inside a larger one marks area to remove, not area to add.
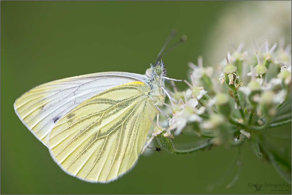
[[[145,75],[102,72],[36,86],[15,101],[15,112],[66,173],[87,182],[116,180],[137,162],[149,116],[164,102],[169,78],[159,59]]]

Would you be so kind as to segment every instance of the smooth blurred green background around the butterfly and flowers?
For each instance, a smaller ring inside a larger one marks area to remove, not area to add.
[[[249,5],[250,4],[250,5]],[[252,6],[249,3],[247,6]],[[186,78],[187,62],[204,65],[208,36],[218,18],[238,2],[227,1],[1,1],[1,194],[250,194],[250,183],[285,182],[248,144],[243,172],[230,188],[236,168],[213,191],[207,186],[224,175],[235,148],[224,146],[189,155],[153,152],[109,184],[91,184],[64,173],[48,149],[16,116],[13,103],[42,83],[81,74],[123,71],[144,74],[172,28],[188,40],[163,57],[167,76]],[[220,49],[220,48],[218,48]],[[227,52],[227,51],[226,51]],[[223,56],[224,57],[224,56]],[[206,63],[205,63],[206,62]],[[185,88],[184,83],[178,86]],[[290,140],[274,140],[291,151]],[[187,138],[191,141],[192,138]],[[184,141],[180,136],[175,142]],[[271,191],[257,194],[291,194]]]

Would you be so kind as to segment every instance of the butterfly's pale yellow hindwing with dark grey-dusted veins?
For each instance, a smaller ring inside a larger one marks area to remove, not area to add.
[[[68,174],[109,182],[138,159],[154,117],[143,82],[107,89],[65,114],[49,135],[50,153]]]

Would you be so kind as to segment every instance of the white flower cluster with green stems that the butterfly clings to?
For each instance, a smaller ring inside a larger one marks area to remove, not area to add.
[[[215,66],[203,67],[202,57],[198,65],[189,62],[192,84],[185,81],[189,88],[180,91],[171,82],[171,87],[164,89],[169,102],[164,103],[162,112],[172,116],[160,119],[161,123],[167,120],[168,127],[154,126],[152,134],[161,147],[184,153],[174,148],[171,131],[179,136],[188,127],[206,142],[185,153],[219,144],[240,147],[246,139],[259,158],[266,156],[277,168],[276,154],[263,132],[291,124],[291,48],[275,43],[269,49],[268,45],[265,41],[261,47],[241,51],[242,42]],[[162,135],[169,141],[165,142]],[[285,168],[291,172],[291,166]]]

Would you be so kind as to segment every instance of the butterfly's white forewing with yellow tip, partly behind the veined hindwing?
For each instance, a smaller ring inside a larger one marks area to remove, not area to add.
[[[39,85],[20,96],[14,109],[22,123],[46,146],[55,123],[71,109],[108,88],[147,77],[127,72],[103,72]]]

